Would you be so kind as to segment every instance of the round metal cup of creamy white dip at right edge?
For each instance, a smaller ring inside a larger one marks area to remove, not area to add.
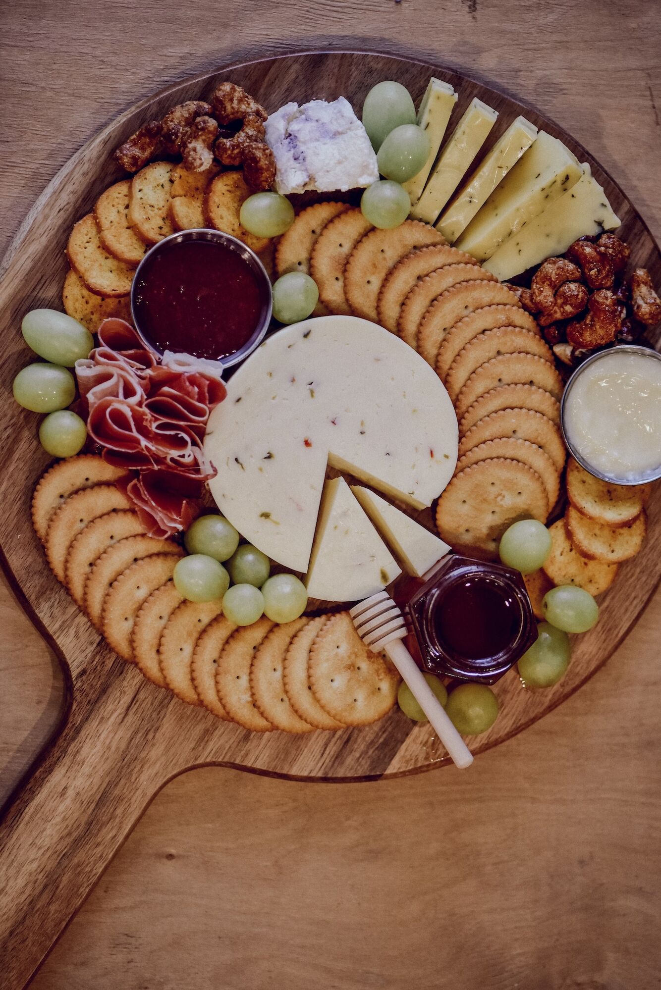
[[[577,374],[565,398],[568,442],[587,464],[626,482],[661,465],[661,360],[605,351]]]

